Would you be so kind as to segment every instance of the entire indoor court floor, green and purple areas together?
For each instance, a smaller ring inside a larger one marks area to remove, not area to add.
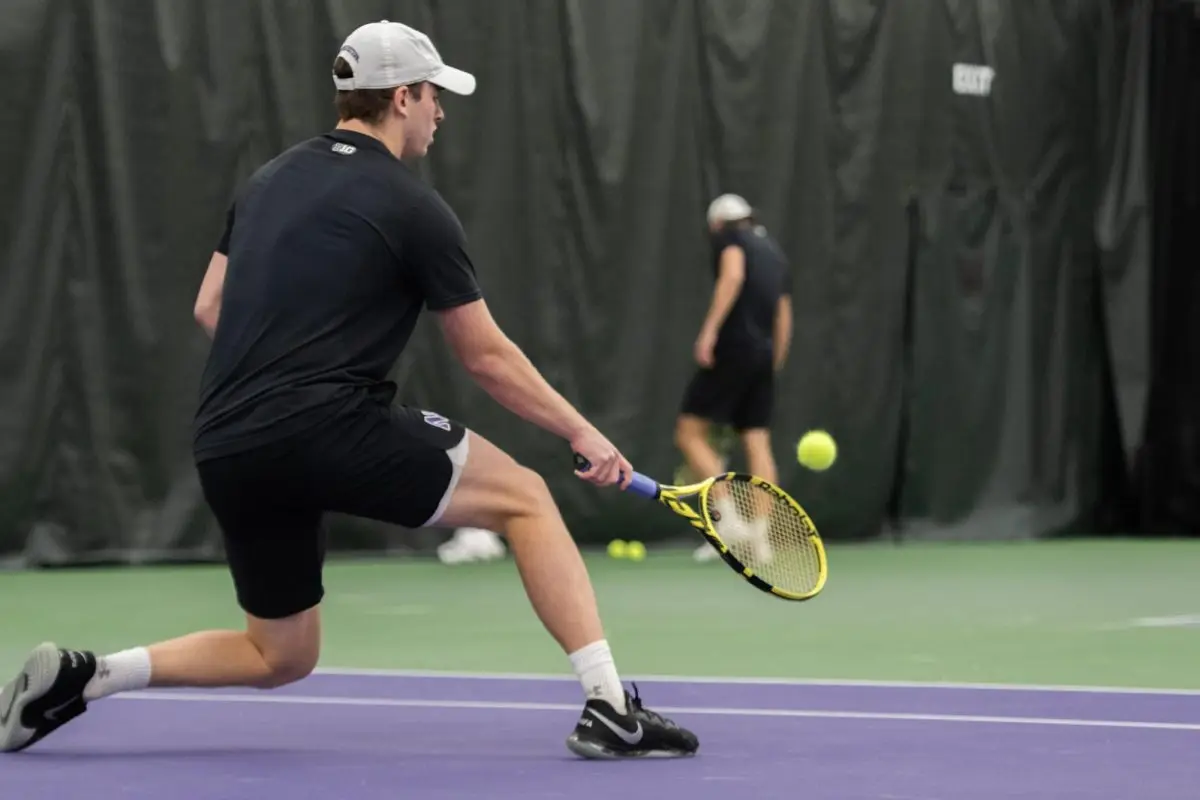
[[[696,758],[582,762],[578,684],[511,560],[330,566],[322,668],[102,700],[12,796],[1108,800],[1200,786],[1200,542],[830,546],[808,603],[720,564],[589,559],[626,684]],[[11,573],[0,666],[238,624],[220,567]]]

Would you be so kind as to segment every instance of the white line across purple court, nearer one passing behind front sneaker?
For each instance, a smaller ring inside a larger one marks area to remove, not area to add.
[[[187,692],[134,692],[116,694],[126,700],[168,703],[260,703],[277,705],[341,705],[359,708],[473,709],[498,711],[575,711],[580,704],[506,703],[492,700],[400,700],[382,697],[316,697],[305,694],[202,694]],[[966,722],[972,724],[1026,724],[1067,728],[1134,728],[1144,730],[1200,730],[1200,723],[1135,722],[1130,720],[1060,720],[1055,717],[1003,717],[959,714],[888,714],[876,711],[806,711],[799,709],[724,709],[707,706],[664,706],[662,714],[738,717],[796,717],[817,720],[883,720],[890,722]]]

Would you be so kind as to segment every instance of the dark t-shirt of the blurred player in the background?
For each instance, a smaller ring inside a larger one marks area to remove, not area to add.
[[[762,225],[728,225],[713,236],[715,275],[720,275],[721,253],[731,246],[745,253],[745,281],[718,333],[714,356],[769,361],[779,299],[792,294],[787,258]]]

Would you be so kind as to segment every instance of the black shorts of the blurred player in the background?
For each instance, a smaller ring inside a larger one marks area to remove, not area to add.
[[[737,431],[770,427],[775,371],[769,360],[719,359],[697,369],[684,391],[680,411]]]

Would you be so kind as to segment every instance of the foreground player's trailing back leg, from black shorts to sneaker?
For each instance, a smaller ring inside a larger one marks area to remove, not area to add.
[[[0,752],[29,747],[88,704],[148,686],[274,688],[312,672],[320,650],[320,512],[272,497],[286,467],[253,457],[202,469],[222,522],[246,628],[212,630],[96,657],[35,648],[0,691]],[[269,475],[265,483],[256,480]]]

